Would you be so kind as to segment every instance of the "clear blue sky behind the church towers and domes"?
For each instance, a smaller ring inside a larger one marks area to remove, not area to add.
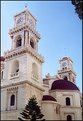
[[[26,3],[37,19],[36,28],[41,34],[39,53],[45,58],[43,77],[48,72],[57,74],[59,60],[68,56],[74,62],[76,83],[82,90],[82,22],[71,1],[2,1],[1,54],[11,49],[8,32],[14,25],[13,16],[24,10]]]

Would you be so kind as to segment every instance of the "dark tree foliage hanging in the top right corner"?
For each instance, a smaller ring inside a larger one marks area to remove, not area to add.
[[[79,18],[83,20],[83,0],[71,0],[75,7],[75,12],[78,14]]]

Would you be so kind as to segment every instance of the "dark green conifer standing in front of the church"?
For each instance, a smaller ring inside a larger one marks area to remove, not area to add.
[[[24,121],[27,119],[29,121],[37,121],[38,119],[41,119],[41,121],[45,121],[45,119],[42,119],[44,115],[41,113],[40,106],[38,105],[35,96],[29,99],[28,104],[25,106],[25,109],[20,114],[22,115],[22,118],[18,118],[20,121]]]

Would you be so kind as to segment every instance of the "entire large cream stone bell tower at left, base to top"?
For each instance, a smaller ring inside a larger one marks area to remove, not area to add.
[[[36,96],[41,105],[43,95],[43,57],[38,53],[40,34],[36,19],[27,10],[14,16],[9,31],[11,50],[4,53],[4,79],[1,81],[1,118],[17,120],[28,99]]]

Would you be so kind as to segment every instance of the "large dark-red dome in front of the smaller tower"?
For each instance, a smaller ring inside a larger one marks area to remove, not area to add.
[[[67,80],[56,80],[52,83],[51,90],[79,90],[78,87]]]

